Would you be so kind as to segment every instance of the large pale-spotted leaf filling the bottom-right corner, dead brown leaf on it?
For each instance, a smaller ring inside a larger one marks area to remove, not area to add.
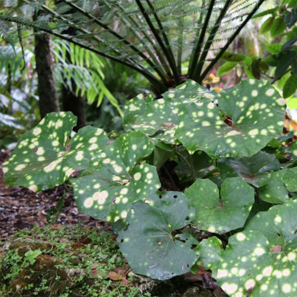
[[[229,238],[217,283],[229,296],[297,295],[297,200],[251,219]]]

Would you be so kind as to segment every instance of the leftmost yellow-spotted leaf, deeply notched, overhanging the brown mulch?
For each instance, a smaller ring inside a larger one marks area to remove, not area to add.
[[[37,192],[62,184],[75,169],[87,168],[108,138],[102,129],[87,126],[66,146],[76,119],[71,112],[48,113],[34,129],[24,133],[3,164],[5,182]]]

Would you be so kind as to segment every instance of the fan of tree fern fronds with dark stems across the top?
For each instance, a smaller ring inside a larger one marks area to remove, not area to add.
[[[45,0],[22,0],[26,9],[17,16],[7,9],[0,20],[39,28],[118,61],[164,91],[181,82],[185,59],[188,77],[201,81],[209,70],[208,52],[225,50],[263,1],[61,0],[49,6]],[[34,22],[32,8],[43,11]],[[69,27],[74,36],[62,33]]]

